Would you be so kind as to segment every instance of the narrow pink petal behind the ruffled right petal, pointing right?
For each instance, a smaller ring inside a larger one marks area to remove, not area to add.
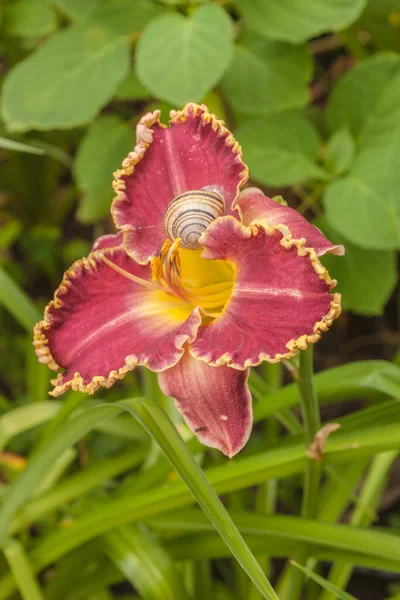
[[[311,225],[297,210],[283,206],[275,202],[272,198],[265,196],[258,188],[247,188],[237,199],[237,206],[242,215],[244,225],[253,223],[271,225],[286,225],[294,239],[306,240],[307,247],[314,248],[317,256],[322,256],[327,252],[344,254],[343,246],[335,246],[320,232],[319,229]],[[287,230],[283,227],[281,231],[287,235]]]

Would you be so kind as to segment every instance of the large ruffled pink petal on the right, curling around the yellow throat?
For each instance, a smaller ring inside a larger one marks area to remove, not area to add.
[[[275,227],[214,221],[201,237],[204,258],[236,266],[232,296],[221,315],[200,327],[195,358],[244,369],[293,356],[319,340],[340,314],[340,295],[315,251]]]

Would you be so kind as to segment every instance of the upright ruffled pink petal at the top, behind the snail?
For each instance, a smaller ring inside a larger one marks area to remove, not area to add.
[[[248,177],[239,144],[204,105],[188,104],[171,117],[166,127],[160,111],[145,115],[134,151],[115,173],[111,212],[127,252],[140,263],[160,252],[167,237],[164,213],[175,196],[208,186],[224,197],[232,214]]]

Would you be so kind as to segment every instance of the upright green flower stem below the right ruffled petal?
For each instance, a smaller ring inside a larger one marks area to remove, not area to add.
[[[307,350],[300,353],[298,386],[306,448],[308,448],[313,443],[315,434],[321,428],[318,398],[314,386],[312,345],[310,345]],[[320,481],[321,463],[308,458],[305,468],[303,500],[301,506],[301,516],[304,519],[313,519],[316,515]],[[305,546],[299,552],[297,562],[304,565],[307,561],[307,555],[308,550],[307,546]],[[288,600],[299,600],[304,582],[302,572],[291,566],[289,567],[288,577],[284,577],[283,581],[285,582],[284,584],[286,584],[286,589],[282,590],[279,588],[279,594],[283,596],[283,598],[286,597]]]

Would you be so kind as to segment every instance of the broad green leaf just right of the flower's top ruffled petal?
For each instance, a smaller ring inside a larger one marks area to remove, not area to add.
[[[294,185],[326,176],[316,164],[318,133],[299,113],[247,120],[236,130],[236,138],[252,177],[265,185]]]

